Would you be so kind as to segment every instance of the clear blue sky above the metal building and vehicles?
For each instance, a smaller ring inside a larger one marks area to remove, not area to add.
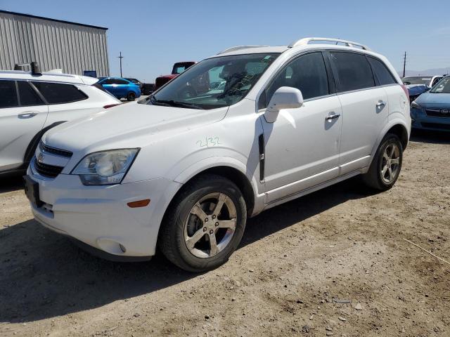
[[[450,1],[0,0],[0,9],[108,27],[111,75],[153,82],[176,61],[240,44],[287,45],[301,37],[359,41],[397,70],[450,68]]]

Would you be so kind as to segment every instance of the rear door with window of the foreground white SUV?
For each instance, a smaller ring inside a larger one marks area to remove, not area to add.
[[[363,53],[330,51],[330,62],[342,105],[340,174],[367,166],[385,126],[389,108],[385,89],[376,86]]]

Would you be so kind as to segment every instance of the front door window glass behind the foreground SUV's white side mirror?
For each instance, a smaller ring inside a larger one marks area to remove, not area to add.
[[[300,89],[305,100],[328,95],[328,76],[322,53],[302,55],[285,65],[260,96],[258,108],[266,107],[274,92],[282,86]]]

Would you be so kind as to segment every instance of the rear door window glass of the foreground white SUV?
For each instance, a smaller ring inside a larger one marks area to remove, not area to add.
[[[331,60],[339,78],[338,92],[375,86],[371,65],[359,53],[330,51]]]

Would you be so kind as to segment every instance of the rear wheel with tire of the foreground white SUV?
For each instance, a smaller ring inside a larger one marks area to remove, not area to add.
[[[402,161],[403,146],[400,138],[387,133],[373,157],[371,167],[362,176],[363,183],[374,190],[389,190],[399,178]]]

